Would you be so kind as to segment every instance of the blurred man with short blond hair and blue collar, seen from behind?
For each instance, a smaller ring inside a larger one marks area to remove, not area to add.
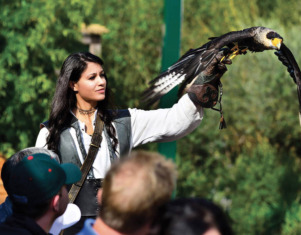
[[[175,165],[157,153],[133,152],[107,172],[96,220],[77,235],[146,235],[159,206],[170,200]]]

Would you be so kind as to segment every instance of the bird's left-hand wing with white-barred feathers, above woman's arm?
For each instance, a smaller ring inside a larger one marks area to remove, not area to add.
[[[186,85],[191,83],[206,68],[221,48],[253,37],[253,28],[228,32],[220,37],[213,38],[213,40],[199,48],[190,49],[177,62],[149,82],[149,88],[144,91],[141,102],[152,104],[183,82],[179,90],[179,93],[182,93]]]

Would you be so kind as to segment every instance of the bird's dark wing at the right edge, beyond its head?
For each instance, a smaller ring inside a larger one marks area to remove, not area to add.
[[[274,54],[278,56],[278,60],[280,60],[285,66],[287,66],[287,72],[290,73],[290,76],[297,84],[299,112],[301,114],[301,71],[299,65],[297,64],[293,53],[290,51],[290,49],[287,48],[284,43],[281,44],[280,50],[274,52]]]

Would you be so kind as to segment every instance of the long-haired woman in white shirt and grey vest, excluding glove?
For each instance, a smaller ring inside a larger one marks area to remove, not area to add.
[[[182,138],[203,118],[203,108],[187,94],[170,109],[109,110],[108,82],[99,57],[89,52],[68,56],[57,78],[49,121],[40,124],[36,141],[36,147],[57,152],[62,163],[80,167],[89,149],[96,115],[104,121],[101,147],[75,201],[82,219],[73,234],[80,230],[83,220],[98,213],[97,190],[113,161],[138,145]]]

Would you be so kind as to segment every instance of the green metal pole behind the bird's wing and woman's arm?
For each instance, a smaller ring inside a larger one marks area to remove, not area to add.
[[[162,53],[162,71],[175,63],[180,56],[182,0],[164,1],[165,36]],[[173,88],[160,100],[160,108],[170,108],[177,100],[178,87]],[[176,141],[159,143],[159,152],[175,160]]]

